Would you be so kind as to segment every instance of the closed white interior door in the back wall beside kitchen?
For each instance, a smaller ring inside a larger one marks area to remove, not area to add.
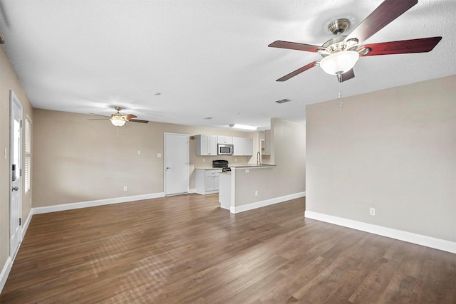
[[[189,135],[165,133],[165,195],[188,193]]]

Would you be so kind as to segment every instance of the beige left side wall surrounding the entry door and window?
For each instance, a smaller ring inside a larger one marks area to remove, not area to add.
[[[9,256],[9,111],[10,90],[14,91],[23,107],[24,119],[33,124],[33,112],[27,95],[22,88],[3,47],[0,46],[0,271]],[[32,125],[33,129],[33,125]],[[24,136],[23,136],[24,140]],[[24,148],[24,142],[23,142]],[[6,150],[6,159],[4,153]],[[24,153],[23,153],[24,154]],[[24,168],[24,162],[22,163]],[[22,183],[24,191],[24,179]],[[32,188],[33,190],[33,188]],[[26,220],[31,210],[32,190],[22,194],[22,219]]]

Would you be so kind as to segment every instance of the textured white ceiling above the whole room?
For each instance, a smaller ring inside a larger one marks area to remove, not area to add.
[[[269,127],[304,121],[305,105],[336,99],[336,76],[315,67],[277,83],[316,53],[334,19],[351,31],[381,0],[0,0],[0,34],[34,108],[183,125]],[[419,0],[366,41],[442,36],[430,53],[360,58],[342,96],[456,73],[456,1]],[[161,95],[155,95],[155,93]],[[275,100],[288,98],[278,105]],[[204,117],[214,117],[204,120]],[[95,122],[97,123],[97,122]]]

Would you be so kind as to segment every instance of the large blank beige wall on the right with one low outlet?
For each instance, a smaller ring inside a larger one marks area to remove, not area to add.
[[[456,241],[456,75],[341,101],[306,108],[306,210]]]

